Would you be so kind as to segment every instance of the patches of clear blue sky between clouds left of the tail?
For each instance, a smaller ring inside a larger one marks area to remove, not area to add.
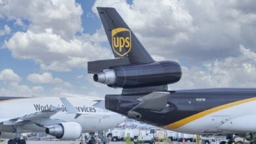
[[[81,33],[89,33],[92,35],[95,33],[96,29],[99,29],[101,26],[100,20],[98,17],[96,17],[95,13],[91,10],[91,8],[94,5],[93,0],[90,1],[76,1],[77,4],[81,5],[81,9],[83,10],[83,14],[81,14],[81,25],[83,27],[83,31]],[[90,16],[88,16],[90,15]],[[39,65],[37,62],[33,60],[20,60],[18,58],[13,58],[12,52],[5,47],[4,43],[5,41],[8,41],[14,33],[18,31],[24,31],[26,32],[27,27],[30,25],[29,20],[22,20],[24,22],[25,26],[17,26],[15,24],[16,20],[9,20],[9,18],[1,18],[0,19],[0,27],[1,29],[4,29],[4,26],[7,25],[11,29],[11,33],[7,33],[5,35],[0,36],[0,43],[1,43],[1,49],[0,49],[0,70],[3,69],[12,69],[14,73],[16,73],[19,77],[22,78],[22,80],[19,82],[20,85],[27,85],[27,86],[33,86],[34,84],[26,77],[30,75],[31,73],[43,73],[45,71],[41,71]],[[81,33],[76,33],[76,35],[81,35]],[[86,65],[86,63],[85,63]],[[51,71],[51,74],[53,77],[60,77],[63,81],[72,83],[72,92],[77,92],[79,94],[83,94],[83,90],[81,90],[81,85],[88,86],[90,84],[87,84],[88,82],[85,81],[85,79],[77,79],[78,75],[85,75],[87,73],[87,69],[83,68],[73,68],[72,71]],[[75,80],[75,81],[74,81]],[[54,86],[54,84],[40,84],[43,86],[44,91],[43,94],[45,95],[51,95],[54,94],[51,92],[51,88]],[[2,88],[8,87],[8,82],[0,82],[0,86]],[[3,92],[4,93],[4,92]],[[85,92],[86,94],[88,92]],[[8,94],[8,92],[7,92]],[[15,95],[19,95],[18,92],[13,92]],[[5,95],[1,94],[0,95]],[[30,94],[28,94],[30,95]],[[22,96],[26,96],[26,94],[22,94]]]

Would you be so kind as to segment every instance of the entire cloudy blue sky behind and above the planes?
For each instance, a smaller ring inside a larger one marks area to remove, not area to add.
[[[155,60],[181,63],[170,89],[254,87],[255,1],[146,2],[0,1],[0,96],[121,92],[87,74],[113,58],[96,7],[116,8]]]

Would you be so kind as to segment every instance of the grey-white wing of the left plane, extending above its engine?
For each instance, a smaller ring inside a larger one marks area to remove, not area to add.
[[[62,109],[64,109],[64,107],[61,107],[61,108],[51,107],[51,109],[39,111],[36,113],[31,113],[28,115],[24,115],[22,117],[1,119],[0,122],[3,123],[3,125],[12,125],[12,126],[29,124],[29,123],[35,123],[41,127],[52,126],[53,124],[64,122],[63,120],[51,118],[51,116],[55,115]]]

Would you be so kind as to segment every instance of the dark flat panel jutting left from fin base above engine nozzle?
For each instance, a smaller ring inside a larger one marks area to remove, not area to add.
[[[101,73],[103,69],[108,69],[116,65],[127,65],[129,63],[128,58],[116,58],[111,60],[97,60],[88,62],[88,73]]]

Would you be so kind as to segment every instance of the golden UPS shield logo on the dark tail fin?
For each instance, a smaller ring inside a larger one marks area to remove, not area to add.
[[[112,48],[119,56],[125,56],[131,50],[131,31],[119,27],[112,29]]]

